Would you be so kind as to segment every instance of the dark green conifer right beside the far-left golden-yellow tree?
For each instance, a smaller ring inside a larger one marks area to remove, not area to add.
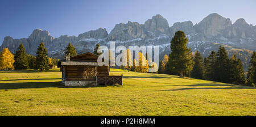
[[[20,44],[18,50],[14,54],[14,68],[15,69],[27,69],[28,68],[28,60],[27,60],[27,53],[23,46]]]

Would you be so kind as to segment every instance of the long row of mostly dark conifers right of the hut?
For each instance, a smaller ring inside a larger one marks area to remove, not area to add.
[[[233,83],[246,86],[256,84],[256,52],[251,56],[247,77],[240,59],[233,55],[228,58],[224,46],[218,52],[212,50],[208,57],[203,58],[200,52],[192,53],[187,47],[185,33],[177,31],[171,40],[171,53],[159,62],[160,74],[174,74],[180,77],[192,77],[209,81]]]

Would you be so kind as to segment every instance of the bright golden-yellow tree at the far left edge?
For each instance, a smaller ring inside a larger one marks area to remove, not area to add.
[[[0,53],[0,70],[14,69],[14,56],[8,48],[5,48]]]

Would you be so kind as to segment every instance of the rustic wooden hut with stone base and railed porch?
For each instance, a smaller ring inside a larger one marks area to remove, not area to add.
[[[87,52],[77,56],[65,56],[58,62],[65,86],[98,86],[98,84],[121,84],[121,76],[110,76],[109,66],[100,66],[98,56]],[[114,81],[114,82],[113,82]]]

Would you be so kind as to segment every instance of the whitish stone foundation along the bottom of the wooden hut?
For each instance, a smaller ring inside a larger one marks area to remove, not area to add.
[[[88,86],[88,87],[97,87],[96,81],[64,81],[65,86]]]

